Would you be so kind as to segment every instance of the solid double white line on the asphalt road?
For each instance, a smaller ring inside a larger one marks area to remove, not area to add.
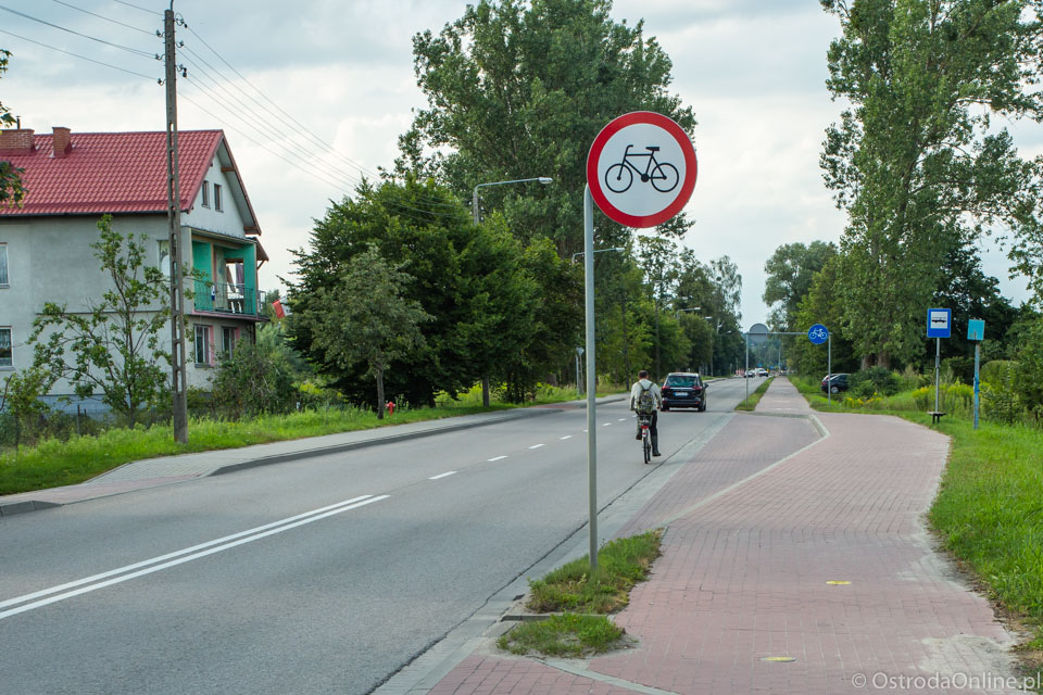
[[[120,569],[114,569],[114,570],[111,570],[111,571],[109,571],[109,572],[103,572],[103,573],[101,573],[101,574],[95,574],[93,577],[88,577],[87,579],[81,579],[81,580],[78,580],[78,581],[75,581],[75,582],[70,582],[70,583],[67,583],[67,584],[62,584],[61,586],[54,586],[54,587],[52,587],[52,589],[47,589],[47,590],[43,590],[43,591],[38,591],[38,592],[33,593],[33,594],[26,594],[26,595],[24,595],[24,596],[16,596],[15,598],[11,598],[11,599],[8,599],[8,601],[3,602],[2,604],[0,604],[0,606],[10,606],[10,605],[13,605],[13,604],[21,604],[21,603],[24,603],[24,602],[26,602],[26,601],[32,601],[33,598],[36,598],[36,597],[39,597],[39,596],[46,596],[46,595],[49,595],[49,594],[54,594],[54,593],[56,593],[56,592],[63,591],[64,589],[67,589],[67,587],[71,587],[71,586],[78,586],[78,585],[81,585],[81,584],[85,584],[85,583],[93,582],[93,581],[97,580],[98,578],[112,577],[113,574],[121,574],[120,577],[115,577],[115,578],[113,578],[113,579],[109,579],[108,581],[98,582],[98,583],[92,583],[92,584],[90,584],[90,585],[88,585],[88,586],[80,586],[80,589],[76,589],[76,590],[73,590],[73,591],[68,591],[68,592],[65,592],[64,594],[58,594],[58,595],[51,596],[50,598],[43,598],[43,599],[41,599],[41,601],[37,601],[37,602],[34,602],[34,603],[25,604],[25,605],[23,605],[23,606],[18,606],[17,608],[12,608],[11,610],[0,611],[0,620],[3,620],[4,618],[10,618],[11,616],[16,616],[16,615],[18,615],[20,612],[25,612],[25,611],[27,611],[27,610],[33,610],[33,609],[35,609],[35,608],[41,608],[41,607],[43,607],[43,606],[48,606],[48,605],[50,605],[50,604],[58,603],[58,602],[60,602],[60,601],[65,601],[66,598],[73,598],[74,596],[79,596],[80,594],[87,594],[87,593],[90,593],[90,592],[92,592],[92,591],[98,591],[99,589],[104,589],[105,586],[112,586],[113,584],[120,584],[120,583],[123,583],[123,582],[125,582],[125,581],[129,581],[129,580],[131,580],[131,579],[137,579],[138,577],[143,577],[143,576],[146,576],[146,574],[151,574],[151,573],[158,572],[158,571],[160,571],[160,570],[162,570],[162,569],[167,569],[167,568],[169,568],[169,567],[175,567],[175,566],[177,566],[177,565],[183,565],[183,564],[189,563],[189,561],[191,561],[191,560],[197,560],[197,559],[199,559],[199,558],[201,558],[201,557],[206,557],[208,555],[213,555],[214,553],[221,553],[222,551],[227,551],[227,549],[234,548],[234,547],[236,547],[237,545],[243,545],[243,544],[246,544],[246,543],[252,543],[253,541],[260,541],[260,540],[263,539],[263,538],[267,538],[267,536],[269,536],[269,535],[275,535],[276,533],[281,533],[282,531],[289,531],[290,529],[296,529],[296,528],[299,527],[299,526],[304,526],[305,523],[311,523],[311,522],[313,522],[313,521],[318,521],[319,519],[325,519],[326,517],[331,517],[331,516],[337,515],[337,514],[340,514],[340,513],[342,513],[342,511],[349,511],[349,510],[351,510],[351,509],[357,509],[359,507],[364,507],[364,506],[366,506],[367,504],[373,504],[374,502],[380,502],[380,501],[382,501],[382,500],[387,500],[388,497],[390,497],[390,495],[379,495],[379,496],[376,496],[376,497],[374,497],[374,496],[372,496],[372,495],[363,495],[362,497],[355,497],[354,500],[348,500],[348,501],[344,501],[344,502],[341,502],[341,503],[338,503],[338,504],[335,504],[335,505],[330,505],[330,506],[328,506],[328,507],[322,507],[321,509],[313,509],[312,511],[305,511],[304,514],[299,514],[299,515],[297,515],[297,516],[282,519],[281,521],[274,521],[274,522],[272,522],[272,523],[266,523],[266,525],[264,525],[264,526],[259,526],[259,527],[256,527],[256,528],[254,528],[254,529],[250,529],[249,531],[242,531],[242,532],[240,532],[240,533],[235,533],[235,534],[233,534],[233,535],[227,535],[227,536],[225,536],[225,538],[223,538],[223,539],[217,539],[216,541],[210,541],[210,542],[208,542],[208,543],[202,543],[202,544],[200,544],[200,545],[194,545],[194,546],[192,546],[192,547],[188,547],[188,548],[185,548],[185,549],[183,549],[183,551],[177,551],[177,552],[175,552],[175,553],[169,553],[169,554],[167,554],[167,555],[161,555],[161,556],[159,556],[159,557],[153,557],[152,559],[149,559],[149,560],[143,560],[143,561],[141,561],[141,563],[136,563],[136,564],[134,564],[134,565],[127,565],[126,567],[121,567]],[[357,501],[357,502],[356,502],[356,501]],[[273,528],[273,527],[275,527],[275,528]],[[267,530],[263,530],[263,531],[262,531],[262,529],[267,529]],[[260,533],[254,533],[255,531],[261,531],[261,532],[260,532]],[[250,533],[253,533],[253,535],[248,535],[248,534],[250,534]],[[246,536],[246,538],[242,538],[242,536]],[[215,544],[223,543],[224,541],[228,541],[228,540],[230,540],[230,539],[238,539],[238,540],[231,541],[231,542],[229,542],[229,543],[225,543],[224,545],[215,545]],[[208,546],[213,546],[213,547],[209,547],[208,549],[204,549],[204,551],[194,553],[194,554],[192,554],[192,555],[185,555],[186,553],[192,553],[192,552],[196,551],[196,549],[204,548],[204,547],[208,547]],[[166,559],[166,558],[177,557],[178,555],[185,555],[185,556],[184,556],[184,557],[179,557],[178,559],[173,559],[173,560],[169,560],[169,561],[166,561],[166,563],[162,563],[161,565],[153,565],[154,563],[159,563],[159,561],[161,561],[161,560],[163,560],[163,559]],[[129,569],[142,567],[142,566],[147,566],[147,565],[153,565],[153,566],[152,566],[152,567],[146,567],[144,569],[139,569],[138,571],[130,572],[129,574],[122,574],[122,572],[125,572],[125,571],[127,571],[127,570],[129,570]]]

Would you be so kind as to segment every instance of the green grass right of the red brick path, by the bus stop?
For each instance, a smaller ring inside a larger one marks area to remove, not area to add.
[[[944,408],[950,415],[932,425],[922,390],[827,406],[817,382],[792,381],[816,409],[894,415],[951,438],[931,527],[991,597],[1033,631],[1023,648],[1043,650],[1043,431],[984,420],[976,431],[958,392]],[[928,396],[933,407],[933,388]]]

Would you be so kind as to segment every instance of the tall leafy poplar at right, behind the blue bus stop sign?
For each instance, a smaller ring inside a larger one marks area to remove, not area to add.
[[[993,225],[1039,233],[1039,165],[997,118],[1043,117],[1039,0],[821,0],[843,35],[829,89],[825,179],[850,216],[841,241],[845,334],[863,366],[922,348],[946,249]]]

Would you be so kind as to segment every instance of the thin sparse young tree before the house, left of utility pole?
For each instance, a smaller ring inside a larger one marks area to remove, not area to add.
[[[171,355],[160,338],[169,319],[168,280],[147,265],[143,235],[114,231],[110,215],[98,229],[101,239],[91,248],[110,289],[100,302],[89,301],[86,313],[47,302],[29,342],[37,365],[68,379],[81,399],[100,392],[105,405],[134,425],[142,407],[161,402],[167,390]]]

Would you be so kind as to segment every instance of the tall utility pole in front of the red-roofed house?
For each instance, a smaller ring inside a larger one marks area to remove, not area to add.
[[[185,379],[185,274],[181,266],[181,188],[177,163],[177,64],[174,58],[174,0],[163,13],[166,61],[166,216],[171,245],[171,391],[174,441],[188,442],[188,392]]]

